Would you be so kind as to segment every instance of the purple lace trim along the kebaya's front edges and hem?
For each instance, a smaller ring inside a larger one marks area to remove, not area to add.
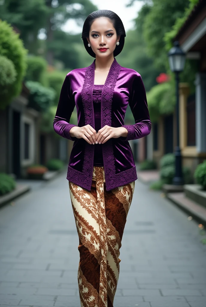
[[[94,112],[93,112],[93,87],[94,87],[94,68],[95,60],[93,63],[86,68],[84,84],[82,87],[82,103],[85,114],[85,123],[90,124],[94,128]],[[112,122],[112,99],[113,91],[116,85],[117,78],[120,73],[121,66],[114,59],[105,84],[102,87],[101,95],[101,127],[108,125],[111,126]],[[98,84],[97,84],[98,85]],[[110,190],[119,185],[124,185],[128,182],[136,180],[137,174],[135,167],[128,169],[121,173],[115,173],[115,164],[114,164],[114,153],[113,153],[113,143],[112,139],[109,139],[106,143],[102,144],[102,153],[105,169],[105,181],[106,181],[106,190]],[[94,157],[94,146],[86,142],[85,152],[84,152],[84,163],[82,172],[78,172],[68,166],[70,170],[70,178],[74,175],[75,182],[82,182],[82,185],[85,188],[90,190],[92,184],[92,174],[93,174],[93,157]]]

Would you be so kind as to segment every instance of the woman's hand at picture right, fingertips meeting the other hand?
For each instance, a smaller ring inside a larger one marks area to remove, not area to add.
[[[96,144],[104,144],[110,138],[119,138],[120,136],[126,137],[128,135],[128,130],[124,127],[111,127],[105,125],[102,127],[95,137]]]

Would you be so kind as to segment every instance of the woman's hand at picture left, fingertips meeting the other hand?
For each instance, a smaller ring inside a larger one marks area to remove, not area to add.
[[[71,137],[83,138],[89,144],[96,143],[95,137],[97,135],[97,132],[89,124],[82,127],[74,126],[70,129],[69,132]]]

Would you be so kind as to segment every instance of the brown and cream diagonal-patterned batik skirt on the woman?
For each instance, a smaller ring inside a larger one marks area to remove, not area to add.
[[[91,191],[69,181],[79,236],[81,307],[113,307],[121,240],[135,181],[106,191],[103,166],[93,166]]]

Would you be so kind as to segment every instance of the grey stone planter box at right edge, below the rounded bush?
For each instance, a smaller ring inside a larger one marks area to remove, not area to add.
[[[201,185],[184,185],[185,196],[206,207],[206,191]]]

